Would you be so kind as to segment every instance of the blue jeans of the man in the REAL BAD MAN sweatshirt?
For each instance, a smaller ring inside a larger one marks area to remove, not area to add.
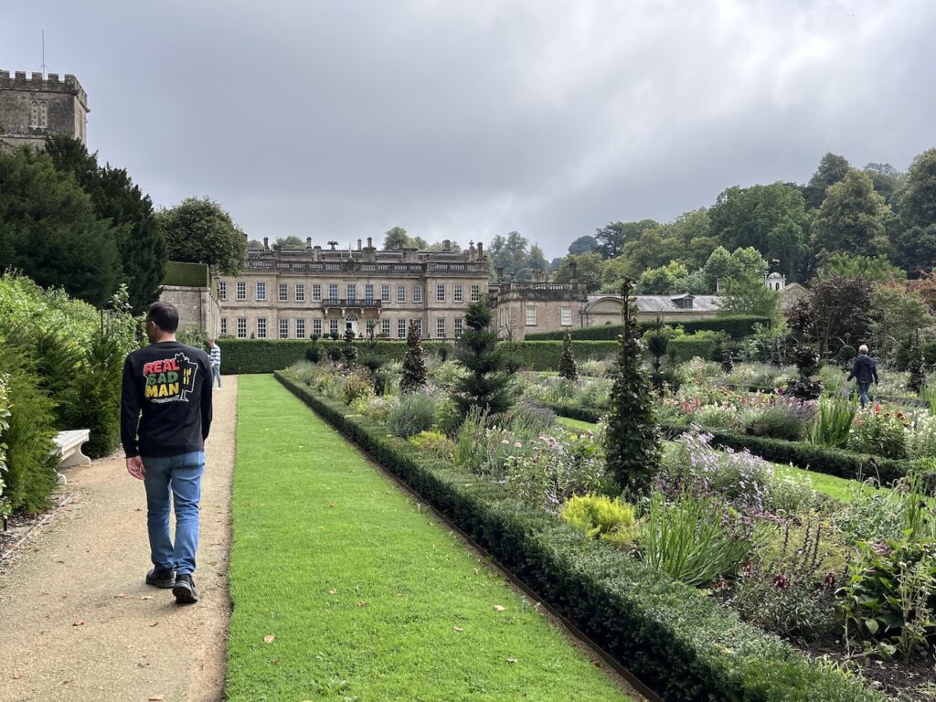
[[[205,453],[143,458],[146,487],[146,527],[150,533],[150,558],[154,566],[179,575],[195,572],[198,548],[198,503]],[[175,545],[169,535],[169,496],[175,503]]]

